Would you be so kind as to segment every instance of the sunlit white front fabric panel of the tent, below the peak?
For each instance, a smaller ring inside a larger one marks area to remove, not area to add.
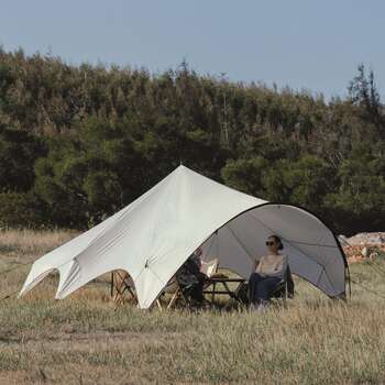
[[[166,180],[167,179],[167,180]],[[116,268],[129,272],[139,304],[148,307],[186,258],[229,219],[264,200],[215,183],[180,166],[134,209],[120,216],[76,256],[64,298],[95,277]],[[157,276],[157,279],[146,277]],[[140,280],[140,282],[139,282]],[[143,286],[152,282],[152,289]]]

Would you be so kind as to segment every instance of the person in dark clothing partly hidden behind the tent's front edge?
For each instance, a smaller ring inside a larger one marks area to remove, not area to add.
[[[204,285],[207,276],[200,272],[202,251],[198,248],[176,272],[183,293],[197,304],[204,304]]]

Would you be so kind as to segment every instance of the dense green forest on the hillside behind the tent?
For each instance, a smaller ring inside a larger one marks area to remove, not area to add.
[[[91,227],[182,162],[338,233],[385,229],[385,110],[363,65],[349,96],[150,74],[0,48],[0,227]]]

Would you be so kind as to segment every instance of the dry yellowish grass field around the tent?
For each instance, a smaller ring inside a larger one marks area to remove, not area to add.
[[[0,232],[1,297],[74,233]],[[385,383],[385,258],[351,267],[352,298],[331,301],[305,282],[288,309],[114,310],[98,280],[54,300],[57,277],[0,301],[0,384]],[[362,288],[383,296],[380,298]]]

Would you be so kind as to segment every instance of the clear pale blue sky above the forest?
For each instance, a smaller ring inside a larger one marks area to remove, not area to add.
[[[69,64],[202,75],[345,96],[363,63],[385,96],[384,0],[0,0],[0,45]]]

